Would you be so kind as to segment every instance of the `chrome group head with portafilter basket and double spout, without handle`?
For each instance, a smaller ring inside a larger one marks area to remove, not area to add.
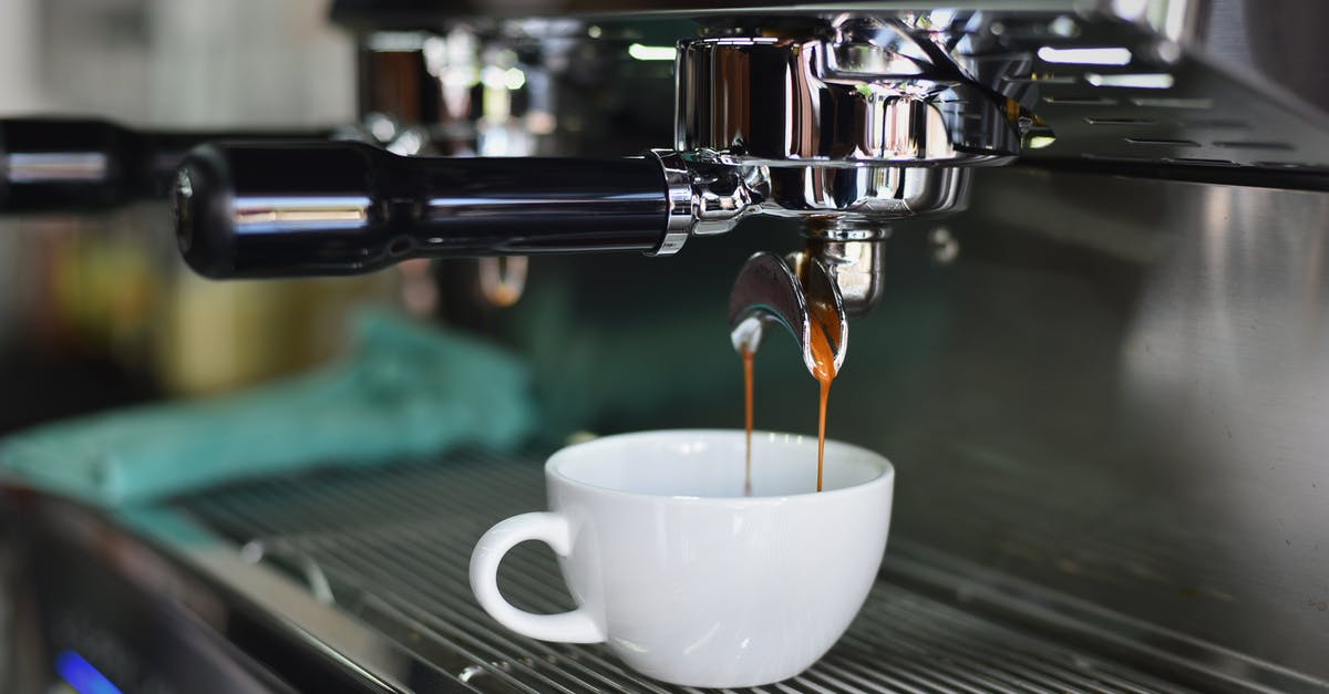
[[[674,157],[694,164],[698,235],[769,214],[797,218],[821,239],[809,262],[829,279],[839,370],[845,311],[867,312],[881,298],[881,247],[872,241],[886,234],[885,222],[962,210],[969,173],[961,166],[1009,162],[1033,120],[901,17],[844,13],[772,25],[779,29],[722,29],[679,47],[675,146],[683,154]],[[756,255],[740,270],[730,296],[735,348],[755,351],[763,323],[781,323],[816,372],[809,320],[780,258]]]

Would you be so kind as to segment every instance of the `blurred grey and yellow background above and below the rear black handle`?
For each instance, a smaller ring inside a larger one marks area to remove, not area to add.
[[[327,12],[323,0],[5,0],[0,116],[181,130],[354,122],[354,40]],[[348,306],[395,300],[392,273],[202,281],[169,225],[165,202],[0,218],[0,433],[299,371],[342,348]]]

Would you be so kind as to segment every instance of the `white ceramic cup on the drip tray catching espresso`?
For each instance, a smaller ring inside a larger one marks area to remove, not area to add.
[[[606,642],[675,685],[744,687],[793,677],[840,638],[872,588],[894,471],[864,448],[755,432],[743,496],[742,431],[661,431],[563,448],[545,464],[549,512],[494,525],[470,588],[532,638]],[[502,556],[548,542],[577,604],[532,614],[498,592]]]

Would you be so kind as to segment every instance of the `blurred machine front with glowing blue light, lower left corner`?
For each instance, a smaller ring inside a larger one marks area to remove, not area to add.
[[[0,519],[17,589],[4,596],[17,608],[0,639],[5,691],[404,694],[443,679],[181,513],[112,516],[0,484]],[[60,666],[66,654],[82,673]]]

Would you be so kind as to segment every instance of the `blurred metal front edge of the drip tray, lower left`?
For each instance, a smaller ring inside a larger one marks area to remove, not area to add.
[[[421,667],[409,650],[344,610],[319,602],[308,586],[266,564],[246,561],[234,544],[178,511],[150,509],[153,522],[145,522],[134,513],[108,513],[9,485],[0,485],[0,505],[157,592],[194,626],[283,681],[291,670],[314,663],[336,667],[344,675],[338,682],[354,682],[355,691],[473,691],[449,674]],[[161,521],[167,516],[178,525],[166,528]],[[255,653],[270,646],[279,653]],[[276,655],[283,655],[280,663],[274,662]]]

